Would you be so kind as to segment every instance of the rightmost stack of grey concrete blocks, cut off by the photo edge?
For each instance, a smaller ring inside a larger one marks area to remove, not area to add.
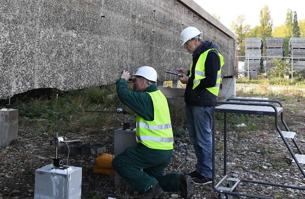
[[[293,61],[293,69],[305,70],[305,38],[291,37],[289,40],[289,56]]]

